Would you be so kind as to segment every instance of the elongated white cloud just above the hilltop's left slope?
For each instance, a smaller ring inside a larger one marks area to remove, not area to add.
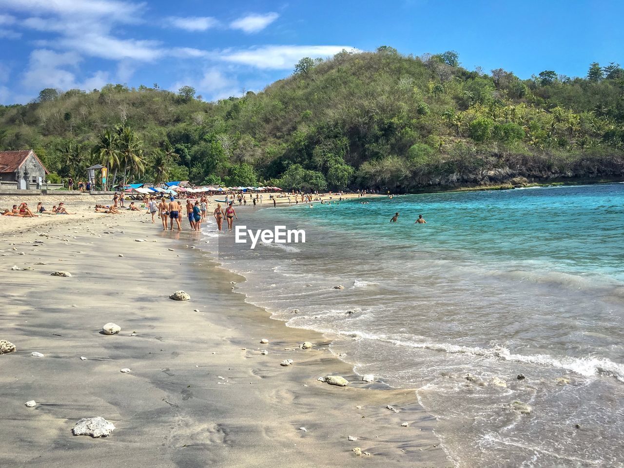
[[[359,52],[349,46],[262,46],[254,49],[225,50],[220,59],[236,64],[250,65],[260,69],[290,69],[302,57],[328,57],[346,49]]]

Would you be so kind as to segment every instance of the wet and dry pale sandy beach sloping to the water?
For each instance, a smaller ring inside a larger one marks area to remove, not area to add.
[[[0,223],[0,339],[17,348],[0,355],[0,466],[452,466],[414,389],[361,381],[331,337],[245,303],[244,278],[193,248],[197,233],[73,200],[74,216]],[[168,298],[178,290],[190,300]],[[121,332],[100,333],[109,322]],[[349,386],[317,381],[326,375]],[[72,435],[95,416],[115,431]]]

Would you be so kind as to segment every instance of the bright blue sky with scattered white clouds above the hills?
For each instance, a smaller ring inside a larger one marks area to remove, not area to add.
[[[459,52],[462,66],[585,76],[624,65],[617,1],[0,0],[0,104],[39,90],[192,85],[205,100],[261,90],[304,56],[381,45]]]

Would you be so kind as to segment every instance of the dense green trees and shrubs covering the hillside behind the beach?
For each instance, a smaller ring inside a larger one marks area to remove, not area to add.
[[[61,177],[105,163],[119,181],[417,190],[526,177],[624,175],[624,71],[585,78],[468,71],[456,52],[391,47],[301,59],[287,79],[214,103],[192,87],[59,92],[0,107],[0,148],[34,148]]]

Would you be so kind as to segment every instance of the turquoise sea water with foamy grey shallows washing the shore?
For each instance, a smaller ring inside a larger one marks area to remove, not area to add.
[[[366,201],[258,210],[306,243],[222,261],[356,372],[419,388],[457,467],[624,466],[624,184]]]

